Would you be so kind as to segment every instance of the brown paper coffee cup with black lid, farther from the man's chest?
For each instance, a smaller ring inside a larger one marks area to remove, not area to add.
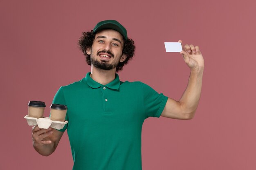
[[[41,101],[29,101],[29,115],[28,117],[41,118],[45,111],[45,102]]]

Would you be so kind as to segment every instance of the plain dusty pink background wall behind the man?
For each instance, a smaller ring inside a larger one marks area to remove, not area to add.
[[[205,60],[198,111],[188,121],[149,118],[142,129],[144,170],[255,170],[254,0],[0,0],[0,170],[71,170],[65,132],[49,157],[32,147],[23,117],[90,71],[77,41],[100,20],[118,20],[136,55],[119,73],[179,99],[189,68],[164,42],[199,45]]]

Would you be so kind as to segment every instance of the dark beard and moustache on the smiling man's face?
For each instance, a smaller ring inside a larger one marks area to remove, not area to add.
[[[110,53],[109,51],[105,51],[105,50],[99,51],[97,53],[96,57],[92,57],[92,55],[93,55],[93,53],[92,53],[90,55],[90,60],[94,67],[99,68],[101,70],[112,70],[113,68],[117,68],[117,65],[119,64],[119,62],[109,64],[104,60],[98,61],[96,58],[97,58],[97,56],[99,56],[99,53],[108,53],[111,55],[111,57],[114,57],[114,54]]]

